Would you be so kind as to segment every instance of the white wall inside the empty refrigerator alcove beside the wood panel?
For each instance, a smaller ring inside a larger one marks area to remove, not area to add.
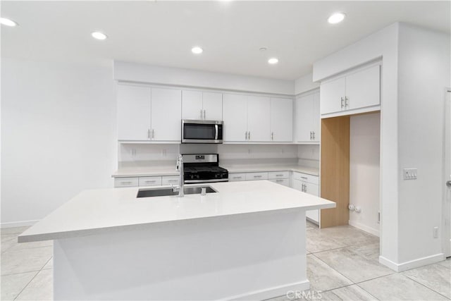
[[[362,211],[350,211],[350,225],[379,235],[379,176],[381,156],[381,114],[351,116],[350,204]]]

